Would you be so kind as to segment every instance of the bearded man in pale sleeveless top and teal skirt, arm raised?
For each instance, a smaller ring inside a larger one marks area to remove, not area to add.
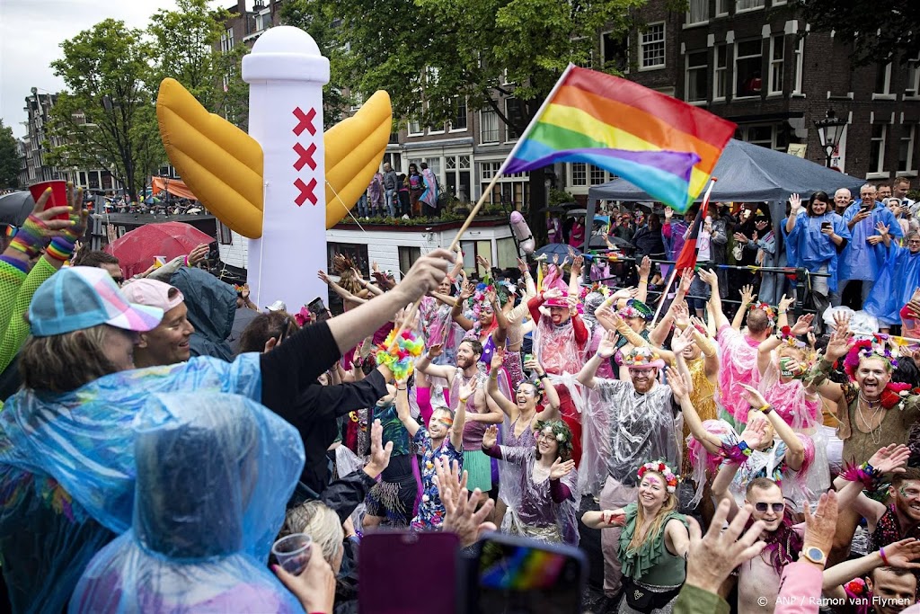
[[[470,492],[477,488],[482,492],[492,490],[492,463],[486,453],[482,451],[482,435],[486,433],[489,424],[500,424],[503,414],[495,401],[486,393],[486,377],[498,378],[498,371],[493,370],[490,376],[480,373],[478,364],[482,356],[482,343],[466,339],[457,348],[457,364],[432,365],[431,361],[441,355],[443,349],[440,345],[432,345],[428,352],[420,356],[415,368],[422,373],[443,377],[447,380],[450,389],[451,410],[456,412],[459,403],[465,401],[460,398],[460,389],[469,388],[473,379],[477,379],[476,392],[466,399],[466,423],[463,429],[463,467],[466,469],[468,479],[466,488]],[[510,398],[511,391],[505,390],[503,394]]]

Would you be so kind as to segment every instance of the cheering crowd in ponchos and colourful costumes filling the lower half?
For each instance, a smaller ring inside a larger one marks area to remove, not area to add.
[[[319,276],[344,313],[259,313],[234,353],[232,286],[195,258],[165,281],[122,281],[93,252],[65,266],[86,212],[72,189],[70,208],[46,198],[0,255],[14,611],[356,611],[362,535],[381,528],[464,547],[597,529],[597,611],[914,605],[920,351],[903,338],[845,313],[816,335],[750,288],[730,320],[704,267],[655,321],[648,259],[614,290],[585,285],[581,257],[474,278],[435,249],[398,281],[337,258]],[[267,566],[297,533],[303,573]]]

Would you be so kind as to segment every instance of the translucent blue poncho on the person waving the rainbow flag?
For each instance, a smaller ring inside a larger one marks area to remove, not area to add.
[[[61,612],[86,563],[132,526],[134,431],[160,392],[261,398],[259,354],[121,371],[0,411],[0,556],[14,611]]]

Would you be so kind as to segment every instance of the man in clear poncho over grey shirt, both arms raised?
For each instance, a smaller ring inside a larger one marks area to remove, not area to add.
[[[681,373],[690,381],[681,354],[693,342],[692,334],[675,335],[671,343],[677,355]],[[615,510],[636,501],[637,473],[649,458],[663,458],[669,466],[677,466],[680,453],[674,429],[674,416],[680,402],[671,388],[658,383],[664,361],[647,346],[634,347],[623,357],[629,368],[628,381],[594,377],[597,367],[616,351],[616,334],[607,331],[597,353],[584,365],[576,379],[593,391],[585,410],[591,421],[606,425],[599,438],[601,458],[585,458],[585,470],[592,473],[590,483],[601,481],[601,509]],[[606,449],[604,449],[606,448]],[[590,462],[589,462],[590,461]],[[597,474],[603,472],[604,476]],[[604,594],[615,597],[622,583],[622,564],[617,556],[620,528],[602,531],[601,550],[604,551]]]

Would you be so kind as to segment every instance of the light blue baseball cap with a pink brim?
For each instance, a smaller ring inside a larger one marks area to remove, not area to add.
[[[109,324],[144,332],[156,328],[163,309],[129,303],[109,272],[95,267],[69,267],[39,286],[29,304],[35,337],[63,335]]]

